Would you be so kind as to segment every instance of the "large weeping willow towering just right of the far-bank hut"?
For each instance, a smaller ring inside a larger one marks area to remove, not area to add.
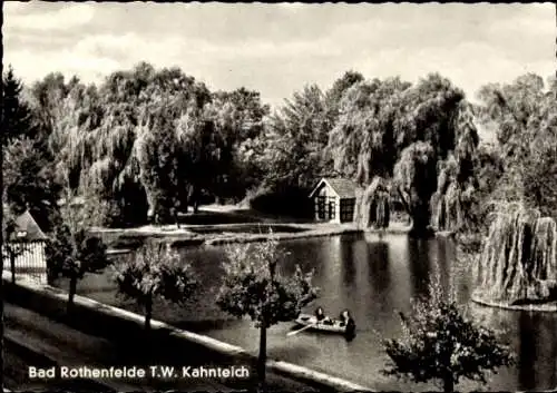
[[[399,196],[410,198],[403,202],[414,234],[426,234],[437,164],[451,151],[468,151],[465,102],[463,92],[439,75],[416,86],[399,78],[353,85],[330,137],[336,170],[364,188],[374,176],[394,178]]]

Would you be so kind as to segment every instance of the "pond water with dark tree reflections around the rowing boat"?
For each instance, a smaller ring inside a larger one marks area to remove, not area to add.
[[[486,390],[544,390],[557,385],[557,313],[529,313],[496,310],[469,303],[469,269],[455,263],[455,247],[448,239],[409,239],[387,235],[381,239],[363,235],[305,238],[282,242],[291,253],[282,266],[292,272],[295,264],[314,269],[321,296],[316,305],[336,316],[349,308],[358,325],[356,337],[303,332],[286,336],[291,323],[273,326],[268,332],[268,355],[378,390],[429,391],[432,384],[412,384],[381,374],[385,356],[383,337],[395,337],[401,326],[397,311],[407,312],[411,297],[424,295],[433,274],[439,272],[444,288],[455,289],[466,312],[485,326],[501,331],[501,338],[518,355],[517,365],[494,375]],[[214,304],[222,275],[221,246],[185,248],[184,259],[192,261],[203,283],[196,302],[189,305],[156,304],[156,318],[189,328],[214,338],[243,346],[254,354],[258,332],[250,321],[237,321],[223,314]],[[138,311],[129,301],[116,296],[109,274],[89,275],[79,283],[78,293],[91,298]],[[140,312],[140,311],[139,311]],[[473,383],[461,383],[458,390],[477,390]]]

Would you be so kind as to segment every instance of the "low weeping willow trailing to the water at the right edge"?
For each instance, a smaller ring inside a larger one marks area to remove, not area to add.
[[[557,223],[521,204],[494,214],[473,269],[479,299],[504,303],[557,301]]]

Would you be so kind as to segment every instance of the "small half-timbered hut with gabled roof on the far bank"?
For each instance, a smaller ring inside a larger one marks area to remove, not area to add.
[[[354,220],[356,184],[343,178],[322,178],[311,191],[317,222],[351,223]]]

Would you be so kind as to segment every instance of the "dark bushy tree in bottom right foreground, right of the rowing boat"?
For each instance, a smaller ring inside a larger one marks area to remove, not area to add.
[[[387,375],[440,381],[444,392],[452,392],[462,377],[487,383],[488,372],[514,363],[495,332],[467,320],[453,298],[443,298],[439,276],[429,298],[414,301],[411,315],[400,316],[402,337],[383,341]]]

